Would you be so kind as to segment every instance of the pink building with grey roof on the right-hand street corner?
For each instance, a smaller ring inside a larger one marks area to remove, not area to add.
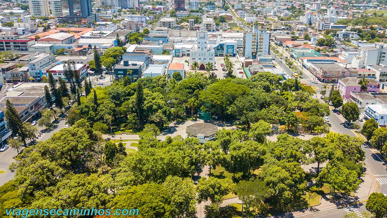
[[[361,87],[358,84],[359,80],[361,80],[361,78],[356,77],[346,77],[343,79],[339,79],[339,83],[337,84],[337,90],[339,90],[342,100],[344,102],[348,101],[351,92],[365,91],[361,90]],[[379,81],[370,78],[367,78],[366,80],[368,81],[367,92],[380,92],[381,83]]]

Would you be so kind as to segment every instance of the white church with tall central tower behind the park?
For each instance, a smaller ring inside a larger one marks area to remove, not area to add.
[[[210,45],[207,47],[207,31],[201,28],[197,31],[197,45],[193,45],[190,51],[190,69],[196,61],[199,64],[199,70],[205,70],[205,64],[211,62],[215,68],[215,51]]]

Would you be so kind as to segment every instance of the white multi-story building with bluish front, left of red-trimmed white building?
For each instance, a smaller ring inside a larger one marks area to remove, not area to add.
[[[46,76],[46,74],[43,75],[42,69],[55,62],[54,54],[38,54],[30,57],[30,60],[27,66],[30,77],[34,78],[35,81],[39,81],[42,76]]]

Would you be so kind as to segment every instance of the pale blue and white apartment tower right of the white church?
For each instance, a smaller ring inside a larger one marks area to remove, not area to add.
[[[256,59],[260,55],[269,53],[270,33],[266,29],[261,29],[254,25],[253,32],[243,33],[243,55],[246,58]]]

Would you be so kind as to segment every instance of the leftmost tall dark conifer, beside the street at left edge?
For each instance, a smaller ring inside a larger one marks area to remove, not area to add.
[[[23,123],[20,119],[19,112],[16,111],[9,99],[7,99],[6,106],[5,121],[7,121],[8,127],[12,130],[13,135],[19,134],[24,142],[24,146],[27,147],[26,134],[24,133]]]

